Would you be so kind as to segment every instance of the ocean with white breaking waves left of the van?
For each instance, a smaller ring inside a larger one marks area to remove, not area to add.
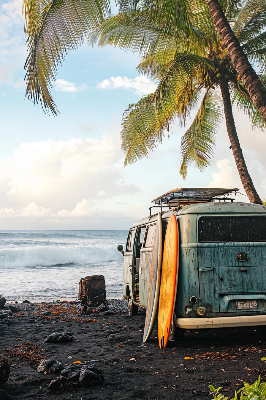
[[[79,281],[104,275],[107,298],[122,298],[128,231],[0,230],[0,294],[8,302],[75,300]]]

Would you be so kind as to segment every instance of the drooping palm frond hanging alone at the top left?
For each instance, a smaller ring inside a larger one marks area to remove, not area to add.
[[[44,110],[57,115],[50,94],[51,82],[59,64],[75,50],[93,26],[110,11],[108,0],[52,0],[42,2],[36,17],[35,1],[25,0],[25,26],[28,38],[26,96],[41,102]]]

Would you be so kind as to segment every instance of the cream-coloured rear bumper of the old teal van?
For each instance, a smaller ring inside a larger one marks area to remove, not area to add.
[[[183,329],[229,328],[234,326],[266,325],[266,315],[215,318],[176,318],[175,324]]]

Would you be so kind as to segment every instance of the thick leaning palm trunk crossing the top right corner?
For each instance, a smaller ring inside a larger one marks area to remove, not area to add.
[[[250,98],[258,111],[260,112],[264,122],[266,122],[266,88],[262,84],[260,78],[250,65],[248,58],[234,32],[231,29],[227,18],[218,2],[218,0],[205,0],[209,6],[211,18],[220,38],[223,40],[231,60],[240,75],[243,84],[248,90]]]

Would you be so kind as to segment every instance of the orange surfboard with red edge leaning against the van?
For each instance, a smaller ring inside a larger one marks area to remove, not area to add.
[[[160,348],[166,347],[170,334],[171,323],[173,320],[177,291],[178,261],[179,233],[177,220],[172,214],[169,218],[166,229],[162,262],[162,277],[158,313],[158,339]]]

